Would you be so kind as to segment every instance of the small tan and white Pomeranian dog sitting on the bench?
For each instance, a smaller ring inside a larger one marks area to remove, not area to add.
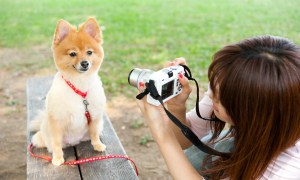
[[[32,144],[52,152],[52,163],[64,163],[63,148],[91,140],[100,141],[106,98],[98,71],[104,58],[102,31],[94,18],[76,27],[59,20],[52,51],[58,72],[46,97],[46,108],[31,123],[37,131]]]

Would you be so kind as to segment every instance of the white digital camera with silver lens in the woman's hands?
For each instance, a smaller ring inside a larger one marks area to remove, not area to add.
[[[171,66],[157,72],[135,68],[128,75],[128,83],[137,89],[142,89],[147,83],[153,81],[158,94],[162,97],[163,102],[166,102],[182,92],[179,74],[184,74],[182,66]],[[147,102],[155,106],[160,105],[160,102],[150,94],[147,95]]]

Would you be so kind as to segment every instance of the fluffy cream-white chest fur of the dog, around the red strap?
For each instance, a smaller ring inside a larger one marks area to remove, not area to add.
[[[106,98],[98,75],[69,81],[77,89],[87,92],[86,100],[89,103],[87,109],[91,119],[101,118]],[[83,100],[83,97],[67,85],[62,75],[57,73],[47,95],[46,109],[63,129],[63,142],[66,144],[79,143],[88,132]]]

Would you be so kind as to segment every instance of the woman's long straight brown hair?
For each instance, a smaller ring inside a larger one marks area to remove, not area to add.
[[[231,117],[231,157],[206,171],[213,179],[257,179],[300,138],[300,49],[291,41],[259,36],[224,47],[209,67],[212,92]],[[215,122],[213,137],[224,128]],[[222,172],[222,173],[220,173]]]

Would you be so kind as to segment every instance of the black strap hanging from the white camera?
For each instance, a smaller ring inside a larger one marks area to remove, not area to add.
[[[184,68],[185,71],[185,77],[188,80],[192,80],[196,83],[197,86],[197,102],[196,102],[196,114],[198,115],[198,117],[200,117],[201,119],[204,120],[208,120],[208,121],[220,121],[216,118],[203,118],[200,115],[200,111],[199,111],[199,86],[197,81],[192,77],[192,73],[190,71],[190,69],[185,66],[185,65],[181,65]],[[155,87],[154,81],[150,80],[149,83],[146,83],[146,89],[144,92],[138,94],[136,96],[137,99],[142,99],[145,95],[149,94],[152,96],[152,98],[158,100],[160,102],[160,104],[163,106],[166,114],[168,115],[168,117],[170,118],[170,120],[181,129],[181,132],[184,134],[184,136],[189,139],[198,149],[200,149],[201,151],[207,153],[207,154],[211,154],[211,155],[215,155],[215,156],[222,156],[222,157],[229,157],[230,154],[229,153],[223,153],[223,152],[219,152],[216,151],[215,149],[211,148],[210,146],[204,144],[197,136],[196,134],[186,125],[184,125],[180,120],[178,120],[172,113],[170,113],[170,111],[167,110],[167,108],[164,106],[163,103],[163,99],[162,96],[159,95],[159,93],[157,92],[157,89]]]

